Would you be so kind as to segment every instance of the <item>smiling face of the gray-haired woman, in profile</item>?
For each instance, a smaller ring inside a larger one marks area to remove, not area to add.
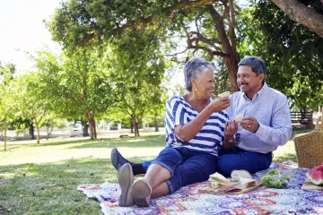
[[[215,82],[214,82],[214,72],[208,70],[205,73],[200,74],[194,79],[195,86],[193,90],[196,89],[196,95],[198,98],[211,98],[214,92]]]

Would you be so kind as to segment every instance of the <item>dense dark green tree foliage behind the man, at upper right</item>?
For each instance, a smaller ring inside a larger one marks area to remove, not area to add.
[[[265,0],[240,14],[240,53],[265,60],[266,82],[284,92],[292,108],[318,107],[323,102],[323,39]]]

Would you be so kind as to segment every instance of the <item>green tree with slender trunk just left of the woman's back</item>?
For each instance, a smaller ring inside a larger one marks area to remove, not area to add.
[[[156,39],[155,29],[140,32],[128,30],[115,45],[111,45],[115,62],[111,73],[116,86],[115,108],[124,112],[135,126],[152,107],[161,104],[161,83],[165,71],[161,44]],[[135,52],[133,51],[135,50]]]

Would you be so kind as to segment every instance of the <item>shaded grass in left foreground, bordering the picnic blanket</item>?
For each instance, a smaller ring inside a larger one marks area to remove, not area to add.
[[[135,157],[141,162],[153,157]],[[0,168],[0,214],[97,214],[100,204],[76,187],[117,183],[109,159],[68,159],[46,164],[7,165]]]

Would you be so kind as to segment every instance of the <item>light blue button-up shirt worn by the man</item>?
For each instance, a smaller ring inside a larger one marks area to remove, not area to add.
[[[287,98],[280,91],[269,88],[266,82],[252,100],[244,92],[233,93],[227,110],[230,119],[242,114],[258,120],[256,133],[250,133],[239,125],[237,146],[242,150],[268,153],[291,138],[291,112]]]

